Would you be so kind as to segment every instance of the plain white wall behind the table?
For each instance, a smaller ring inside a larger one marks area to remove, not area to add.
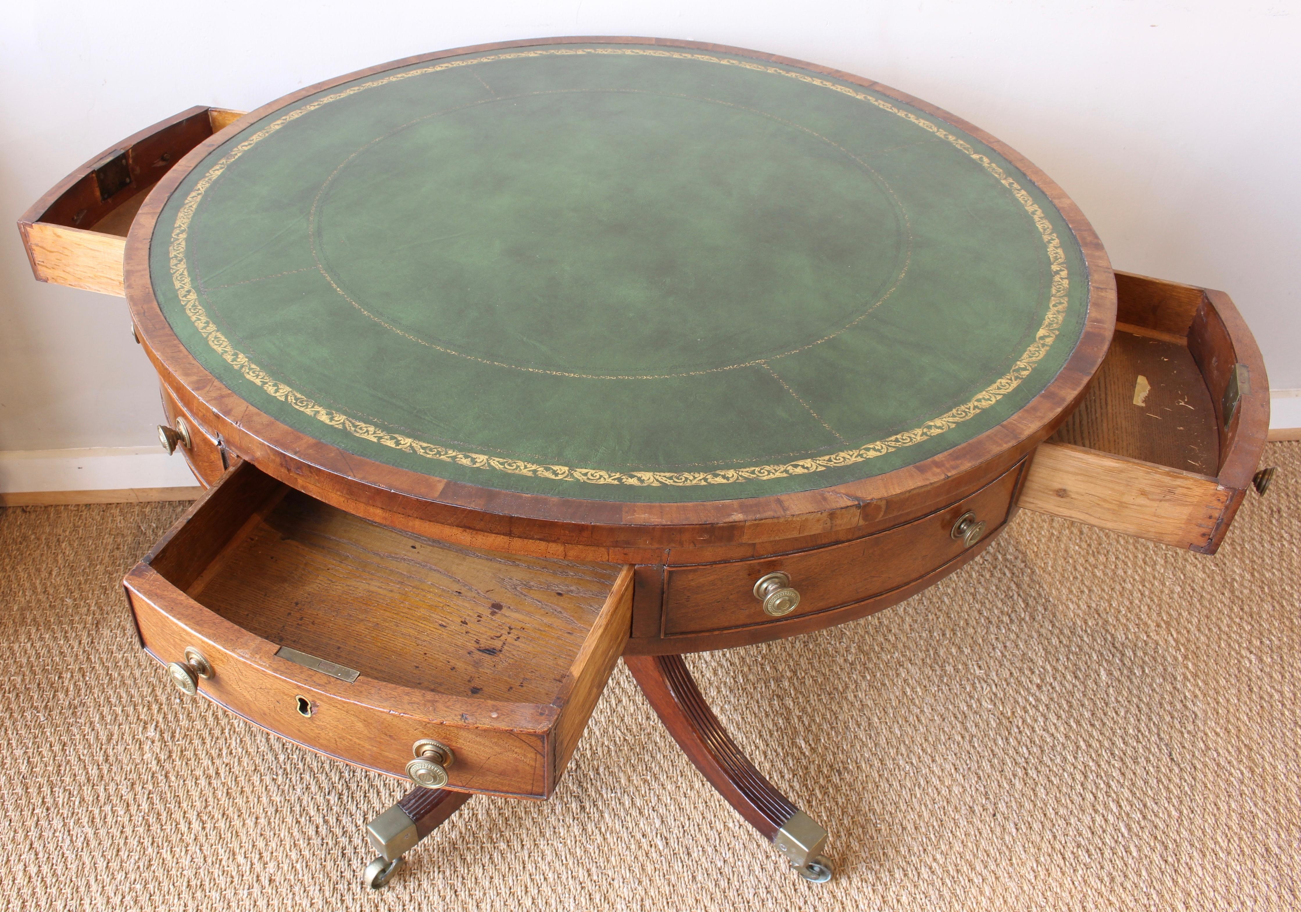
[[[881,79],[1007,141],[1118,268],[1229,291],[1271,386],[1301,388],[1297,0],[226,0],[7,4],[0,216],[191,104],[250,109],[440,48],[662,35]],[[0,232],[0,451],[150,445],[154,376],[121,299],[38,284]]]

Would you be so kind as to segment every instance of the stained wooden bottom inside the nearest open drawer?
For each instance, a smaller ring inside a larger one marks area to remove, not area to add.
[[[550,704],[588,635],[610,635],[592,628],[617,575],[403,535],[291,490],[187,595],[376,680]]]

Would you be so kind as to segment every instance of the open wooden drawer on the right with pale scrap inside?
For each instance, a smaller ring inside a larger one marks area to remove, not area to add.
[[[1214,554],[1270,427],[1265,362],[1223,291],[1116,273],[1116,333],[1020,505]]]

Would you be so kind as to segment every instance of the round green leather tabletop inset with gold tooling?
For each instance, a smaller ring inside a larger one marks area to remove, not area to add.
[[[488,488],[704,501],[879,475],[1047,386],[1088,275],[1013,165],[809,70],[445,57],[286,104],[167,203],[154,291],[255,407]]]

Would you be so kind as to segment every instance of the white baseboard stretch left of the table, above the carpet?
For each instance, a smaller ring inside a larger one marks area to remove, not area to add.
[[[0,453],[0,502],[10,506],[186,500],[198,490],[185,457],[157,446]]]

